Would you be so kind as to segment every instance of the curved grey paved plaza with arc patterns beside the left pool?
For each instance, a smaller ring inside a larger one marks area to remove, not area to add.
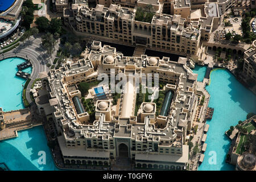
[[[20,42],[20,45],[12,49],[9,52],[3,53],[3,55],[0,55],[0,59],[6,59],[8,57],[22,57],[24,59],[30,59],[32,63],[32,73],[31,73],[31,81],[27,86],[27,92],[26,97],[28,103],[31,103],[32,100],[30,98],[30,88],[32,85],[32,82],[35,80],[35,78],[38,78],[40,72],[48,72],[49,68],[46,66],[47,63],[52,64],[54,57],[56,55],[56,51],[59,49],[59,43],[55,46],[55,51],[52,53],[52,57],[50,57],[46,50],[41,46],[41,38],[34,38],[30,37],[30,41]]]

